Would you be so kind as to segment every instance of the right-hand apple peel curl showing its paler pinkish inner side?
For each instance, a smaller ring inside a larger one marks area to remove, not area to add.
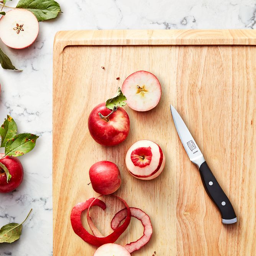
[[[133,251],[136,251],[146,245],[148,241],[151,238],[151,235],[153,233],[152,225],[149,216],[143,212],[143,210],[135,207],[130,207],[131,216],[137,218],[141,221],[141,224],[144,227],[143,236],[139,238],[137,241],[131,242],[127,245],[125,245],[125,248],[129,253],[132,253]],[[113,230],[116,230],[120,223],[125,219],[127,215],[127,210],[124,208],[123,210],[120,210],[116,215],[113,217],[111,221],[111,228]]]

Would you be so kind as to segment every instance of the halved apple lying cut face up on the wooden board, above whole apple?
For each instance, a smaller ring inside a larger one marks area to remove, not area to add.
[[[122,92],[130,108],[136,111],[148,111],[158,105],[161,98],[161,85],[152,73],[137,71],[125,79]]]

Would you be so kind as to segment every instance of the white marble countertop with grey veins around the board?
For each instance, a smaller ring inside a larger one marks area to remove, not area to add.
[[[8,4],[15,6],[18,1]],[[27,49],[3,45],[22,72],[0,67],[0,122],[7,114],[18,131],[40,135],[36,148],[22,156],[23,183],[0,194],[0,226],[22,222],[20,240],[0,244],[0,255],[53,255],[52,222],[52,66],[53,40],[59,30],[102,29],[255,29],[255,0],[58,0],[63,13],[39,24],[39,36]],[[3,148],[0,149],[0,153]],[[82,255],[82,254],[81,254]],[[85,254],[83,254],[85,255]]]

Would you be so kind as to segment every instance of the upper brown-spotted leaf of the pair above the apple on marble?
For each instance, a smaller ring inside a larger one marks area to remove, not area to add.
[[[1,148],[5,147],[8,139],[14,137],[17,133],[17,125],[13,118],[7,115],[7,119],[3,122],[0,127],[0,136],[1,136]]]

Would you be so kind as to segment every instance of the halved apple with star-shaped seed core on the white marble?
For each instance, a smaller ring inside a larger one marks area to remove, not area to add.
[[[7,46],[23,49],[34,43],[39,23],[31,11],[13,9],[0,19],[0,38]]]

